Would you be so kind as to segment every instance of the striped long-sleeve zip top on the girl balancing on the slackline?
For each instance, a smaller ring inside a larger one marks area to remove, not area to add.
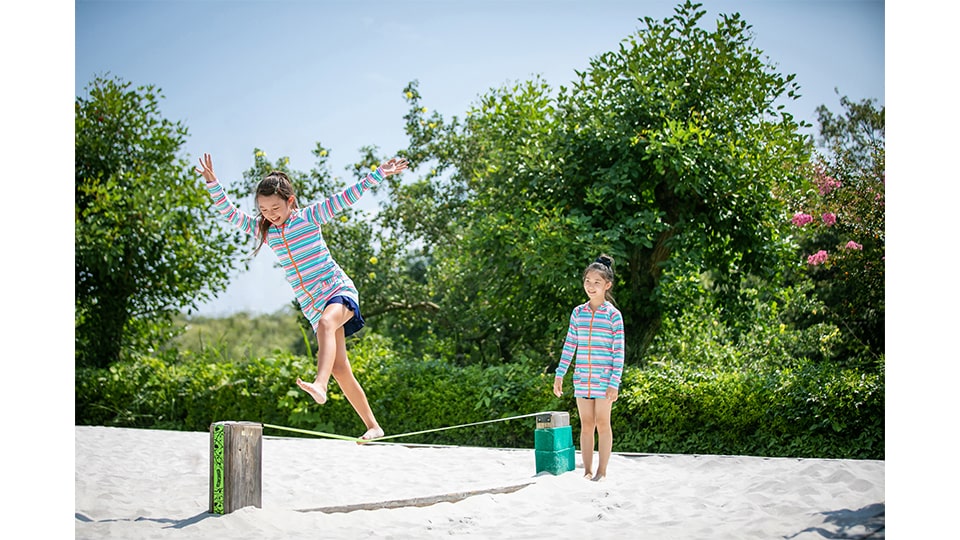
[[[383,178],[383,169],[378,167],[342,192],[295,209],[287,221],[280,226],[271,224],[267,230],[267,245],[280,260],[287,282],[314,330],[327,301],[333,296],[348,296],[358,305],[360,302],[353,281],[330,255],[320,226],[343,209],[356,204],[364,193],[379,185]],[[226,216],[232,225],[257,236],[263,216],[253,217],[237,208],[219,182],[207,184],[207,191],[217,211]]]

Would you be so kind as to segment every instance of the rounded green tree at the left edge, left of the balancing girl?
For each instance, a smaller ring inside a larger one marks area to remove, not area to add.
[[[186,161],[180,122],[162,94],[95,78],[75,105],[75,261],[78,366],[104,367],[157,347],[172,317],[229,277],[236,237],[210,218]]]

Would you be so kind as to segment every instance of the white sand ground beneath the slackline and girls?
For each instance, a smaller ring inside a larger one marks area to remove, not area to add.
[[[267,435],[262,508],[216,515],[209,433],[75,429],[78,539],[885,537],[883,461],[614,455],[597,483],[579,457],[576,471],[535,474],[533,449]],[[524,484],[429,506],[316,510]]]

